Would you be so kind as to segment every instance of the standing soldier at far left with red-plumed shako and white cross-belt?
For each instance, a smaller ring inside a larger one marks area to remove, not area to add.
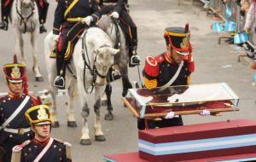
[[[29,107],[38,105],[39,101],[27,95],[26,67],[17,62],[16,55],[14,63],[3,66],[3,72],[9,94],[0,99],[0,146],[5,152],[3,161],[9,162],[12,148],[33,137],[24,114]]]

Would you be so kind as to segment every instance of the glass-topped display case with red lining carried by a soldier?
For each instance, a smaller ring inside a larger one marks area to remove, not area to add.
[[[164,117],[170,111],[177,115],[238,110],[239,97],[225,83],[191,84],[161,88],[129,89],[125,105],[137,118]]]

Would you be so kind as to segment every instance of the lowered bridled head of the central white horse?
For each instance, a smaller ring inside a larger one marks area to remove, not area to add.
[[[95,69],[96,69],[96,86],[106,84],[108,69],[113,65],[113,55],[116,55],[119,49],[113,49],[109,46],[102,46],[95,49]]]

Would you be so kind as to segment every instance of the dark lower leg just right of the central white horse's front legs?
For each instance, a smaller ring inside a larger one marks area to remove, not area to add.
[[[111,103],[111,93],[112,93],[112,86],[110,83],[108,83],[106,85],[106,89],[105,89],[106,95],[107,95],[107,110],[108,113],[105,115],[105,120],[113,120],[113,107],[112,107],[112,103]]]

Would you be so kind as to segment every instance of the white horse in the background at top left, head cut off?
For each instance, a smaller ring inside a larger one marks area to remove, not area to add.
[[[34,0],[15,0],[11,10],[11,20],[15,31],[15,54],[21,55],[21,62],[26,63],[22,34],[29,32],[32,43],[33,72],[36,81],[43,81],[38,66],[38,33],[39,17],[38,7]]]

